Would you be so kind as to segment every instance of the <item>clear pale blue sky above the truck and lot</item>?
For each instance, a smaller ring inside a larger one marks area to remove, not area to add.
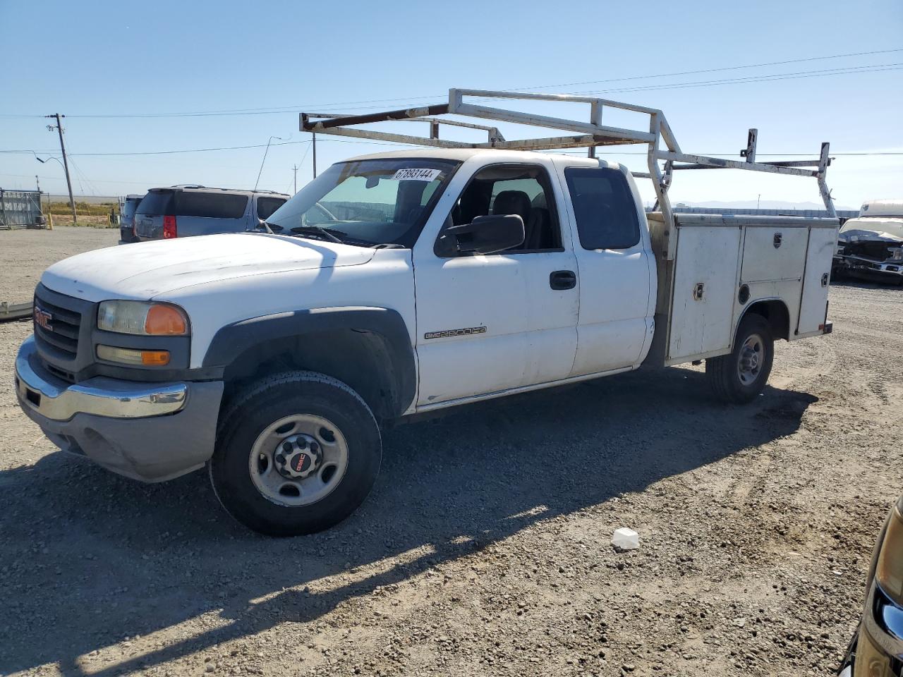
[[[438,103],[450,87],[609,90],[600,96],[664,110],[689,153],[736,156],[751,126],[759,128],[760,154],[817,153],[822,141],[831,142],[833,153],[903,153],[903,70],[889,70],[903,68],[899,0],[0,0],[0,24],[6,27],[0,151],[59,155],[56,134],[45,128],[50,121],[40,116],[66,114],[74,188],[82,194],[118,195],[173,183],[253,187],[262,147],[81,153],[259,146],[271,135],[284,142],[274,140],[260,187],[292,191],[293,164],[301,165],[299,187],[312,173],[310,137],[298,131],[298,111]],[[644,77],[864,51],[886,52]],[[870,70],[879,66],[884,70]],[[711,84],[762,76],[785,79]],[[646,89],[610,91],[625,88]],[[370,102],[388,98],[396,100]],[[152,116],[272,108],[285,112]],[[143,117],[115,117],[121,115]],[[324,139],[318,165],[381,150],[397,149]],[[642,169],[641,155],[612,157]],[[0,153],[0,186],[33,188],[35,173],[42,189],[65,190],[57,162]],[[838,155],[828,182],[842,206],[903,198],[903,155]],[[759,194],[763,200],[818,201],[815,181],[745,172],[678,173],[672,190],[675,201],[755,200]]]

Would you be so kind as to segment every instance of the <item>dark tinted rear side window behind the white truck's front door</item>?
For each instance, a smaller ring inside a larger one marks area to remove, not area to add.
[[[564,177],[584,249],[629,249],[639,242],[637,205],[621,172],[569,167]]]

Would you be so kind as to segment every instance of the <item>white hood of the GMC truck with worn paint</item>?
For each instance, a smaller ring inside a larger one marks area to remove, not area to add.
[[[375,253],[370,247],[265,233],[185,237],[71,256],[44,271],[41,282],[88,301],[151,299],[249,275],[366,264]]]

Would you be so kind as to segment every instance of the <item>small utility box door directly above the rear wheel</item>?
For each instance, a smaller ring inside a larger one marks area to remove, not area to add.
[[[741,283],[802,280],[809,228],[748,226]]]

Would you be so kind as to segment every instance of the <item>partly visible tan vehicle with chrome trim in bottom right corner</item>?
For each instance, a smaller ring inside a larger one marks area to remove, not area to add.
[[[865,605],[841,664],[842,677],[899,675],[903,656],[903,496],[871,556]]]

